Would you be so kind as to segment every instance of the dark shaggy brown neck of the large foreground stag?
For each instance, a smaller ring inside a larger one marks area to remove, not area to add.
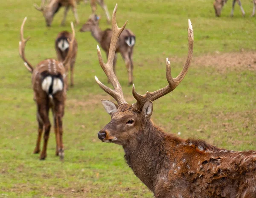
[[[170,149],[170,145],[175,147],[175,144],[179,144],[182,140],[164,133],[151,121],[145,126],[145,129],[141,130],[136,138],[134,137],[137,140],[136,143],[123,148],[128,166],[154,192],[159,179],[167,182],[169,169],[166,167],[174,163],[172,156],[175,149]]]

